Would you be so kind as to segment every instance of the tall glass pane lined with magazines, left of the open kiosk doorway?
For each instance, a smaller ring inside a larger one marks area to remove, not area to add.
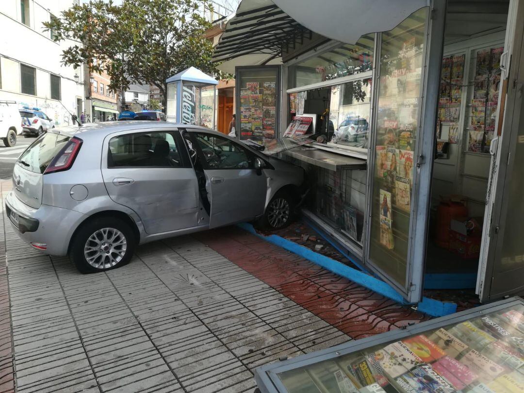
[[[369,259],[406,287],[413,162],[428,8],[382,35]]]

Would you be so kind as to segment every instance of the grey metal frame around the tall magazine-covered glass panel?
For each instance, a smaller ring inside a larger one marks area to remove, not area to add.
[[[444,43],[444,26],[446,16],[446,0],[430,0],[428,9],[428,23],[425,28],[425,49],[422,63],[421,104],[419,107],[420,132],[417,136],[416,157],[413,157],[414,169],[417,170],[417,181],[413,183],[411,191],[412,211],[409,224],[408,254],[406,269],[406,285],[402,286],[386,274],[373,260],[369,259],[370,232],[372,220],[372,198],[376,163],[376,125],[378,90],[374,90],[374,113],[372,114],[373,143],[370,146],[368,158],[367,178],[367,228],[364,244],[365,264],[370,266],[381,279],[394,287],[411,303],[422,298],[425,252],[428,238],[428,217],[431,203],[431,179],[433,171],[433,151],[435,145],[436,108],[438,106],[440,72]],[[374,56],[377,59],[375,83],[380,81],[380,42],[381,34],[376,40],[378,51]]]

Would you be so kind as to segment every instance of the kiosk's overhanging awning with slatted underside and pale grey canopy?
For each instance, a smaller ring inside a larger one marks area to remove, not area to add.
[[[213,52],[219,69],[282,63],[282,51],[312,32],[354,44],[361,36],[397,26],[429,0],[242,0]]]

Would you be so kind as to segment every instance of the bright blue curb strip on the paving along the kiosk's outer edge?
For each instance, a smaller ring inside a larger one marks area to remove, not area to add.
[[[339,261],[326,257],[325,255],[315,253],[307,247],[291,242],[278,235],[260,235],[255,231],[255,228],[252,224],[241,223],[237,225],[241,227],[244,231],[247,231],[261,239],[264,239],[266,242],[275,244],[276,246],[287,249],[288,251],[294,254],[300,255],[301,257],[308,259],[311,262],[334,272],[335,274],[350,279],[351,281],[356,282],[358,285],[362,285],[363,287],[380,293],[381,295],[391,300],[394,300],[401,304],[411,304],[408,303],[402,297],[402,295],[395,290],[395,288],[391,287],[388,283],[378,278],[369,276],[368,274],[362,271],[346,266],[340,263]],[[456,311],[455,303],[441,302],[426,297],[422,298],[422,301],[418,303],[418,307],[421,312],[425,312],[431,316],[443,316],[452,314]],[[422,307],[422,309],[420,307]]]

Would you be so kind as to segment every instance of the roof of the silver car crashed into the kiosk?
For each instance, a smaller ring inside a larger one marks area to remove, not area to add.
[[[139,129],[166,129],[166,128],[191,128],[191,129],[201,129],[207,132],[215,132],[210,128],[199,127],[192,124],[180,124],[172,122],[155,122],[155,121],[136,121],[136,120],[125,120],[119,122],[104,122],[104,123],[84,123],[82,126],[65,126],[53,128],[52,132],[66,134],[66,135],[76,135],[79,138],[85,136],[97,136],[105,137],[106,135],[118,133],[121,131],[134,131]],[[224,135],[224,134],[222,134]]]

